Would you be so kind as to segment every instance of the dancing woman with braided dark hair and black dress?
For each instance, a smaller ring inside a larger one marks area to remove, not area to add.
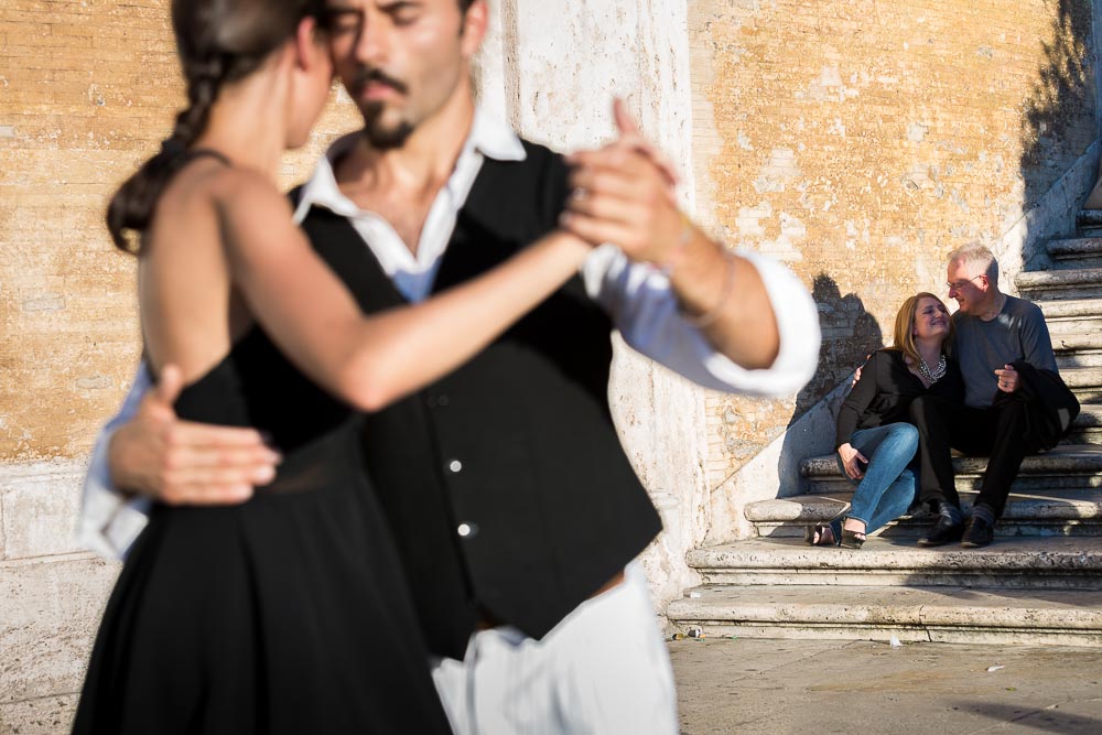
[[[364,316],[276,186],[328,95],[323,19],[320,0],[172,3],[188,105],[108,226],[139,257],[150,369],[186,382],[177,414],[257,426],[284,458],[239,505],[154,507],[104,614],[77,733],[449,732],[356,409],[458,366],[588,247],[553,234]]]

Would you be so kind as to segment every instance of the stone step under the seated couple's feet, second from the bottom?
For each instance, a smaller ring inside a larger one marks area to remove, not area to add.
[[[1102,538],[1018,537],[982,549],[925,549],[873,537],[860,550],[810,547],[799,539],[746,539],[693,549],[689,566],[704,584],[763,586],[971,586],[1102,592]]]

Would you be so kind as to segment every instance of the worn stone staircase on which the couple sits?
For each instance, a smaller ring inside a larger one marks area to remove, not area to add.
[[[852,495],[833,456],[812,457],[806,495],[746,507],[756,538],[689,553],[703,584],[670,604],[670,621],[722,636],[1102,647],[1102,231],[1088,234],[1099,237],[1048,244],[1054,270],[1015,279],[1044,311],[1082,412],[1065,443],[1026,458],[994,543],[922,549],[922,514],[858,551],[809,547],[803,528]],[[953,462],[970,507],[986,461]]]

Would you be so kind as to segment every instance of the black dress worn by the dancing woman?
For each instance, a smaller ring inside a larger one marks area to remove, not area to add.
[[[74,732],[450,732],[355,413],[260,329],[176,411],[266,431],[284,460],[242,505],[153,509],[104,614]]]

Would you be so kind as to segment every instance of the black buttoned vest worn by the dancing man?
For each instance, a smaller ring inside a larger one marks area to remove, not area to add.
[[[525,148],[484,162],[434,291],[555,226],[566,166]],[[314,207],[303,228],[366,313],[406,303],[345,218]],[[611,333],[574,277],[467,365],[367,417],[368,474],[434,653],[462,659],[479,617],[542,638],[661,530],[613,426]]]

